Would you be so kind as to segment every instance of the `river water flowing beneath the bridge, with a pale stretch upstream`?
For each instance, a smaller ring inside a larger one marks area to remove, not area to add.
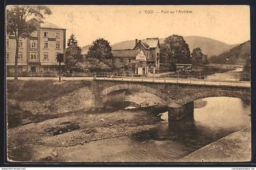
[[[218,73],[213,77],[233,73]],[[172,133],[168,112],[154,129],[133,136],[94,141],[60,151],[60,161],[177,161],[232,132],[251,124],[251,103],[233,97],[208,97],[206,105],[194,108],[194,122],[189,131]],[[131,108],[131,107],[130,107]]]

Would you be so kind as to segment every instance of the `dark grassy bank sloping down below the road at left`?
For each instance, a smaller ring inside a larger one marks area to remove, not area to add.
[[[59,115],[34,114],[40,111],[41,107],[45,110],[52,110],[54,99],[59,96],[73,93],[81,87],[90,87],[90,82],[76,81],[58,83],[54,80],[7,80],[7,115],[8,126],[15,127],[30,122],[43,121],[44,119],[57,118]],[[45,101],[51,101],[44,104]],[[33,105],[32,105],[33,104]],[[27,107],[24,107],[27,106]],[[31,110],[26,109],[31,107]]]

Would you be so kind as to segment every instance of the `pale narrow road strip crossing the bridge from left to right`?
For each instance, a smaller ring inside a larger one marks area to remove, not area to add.
[[[13,77],[7,77],[7,80],[12,80]],[[59,77],[19,77],[20,80],[47,80],[53,79],[58,81]],[[205,80],[205,79],[163,79],[163,78],[146,78],[146,77],[115,77],[104,78],[97,77],[97,80],[121,80],[127,82],[156,82],[156,83],[184,83],[184,84],[198,84],[198,85],[222,85],[232,87],[251,87],[251,82],[244,81],[219,81],[219,80]],[[93,77],[62,77],[62,80],[93,80]]]

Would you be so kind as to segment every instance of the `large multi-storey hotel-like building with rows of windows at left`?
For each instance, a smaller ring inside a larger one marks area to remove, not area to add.
[[[44,21],[38,23],[32,37],[19,41],[18,72],[45,73],[59,70],[57,54],[66,49],[66,29]],[[16,40],[14,35],[6,35],[7,73],[14,73]],[[62,63],[63,68],[64,63]]]

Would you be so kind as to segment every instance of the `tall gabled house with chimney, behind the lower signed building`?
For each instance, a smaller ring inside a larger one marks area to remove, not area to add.
[[[160,66],[160,43],[159,38],[146,38],[146,40],[135,40],[133,49],[141,49],[147,58],[149,71],[155,73],[155,68]]]

